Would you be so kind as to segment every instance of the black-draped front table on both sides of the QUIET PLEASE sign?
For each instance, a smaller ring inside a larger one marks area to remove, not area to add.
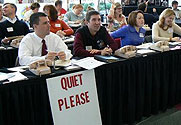
[[[96,68],[103,125],[132,124],[180,103],[180,64],[175,50]],[[46,78],[66,73],[0,85],[0,124],[52,125]]]

